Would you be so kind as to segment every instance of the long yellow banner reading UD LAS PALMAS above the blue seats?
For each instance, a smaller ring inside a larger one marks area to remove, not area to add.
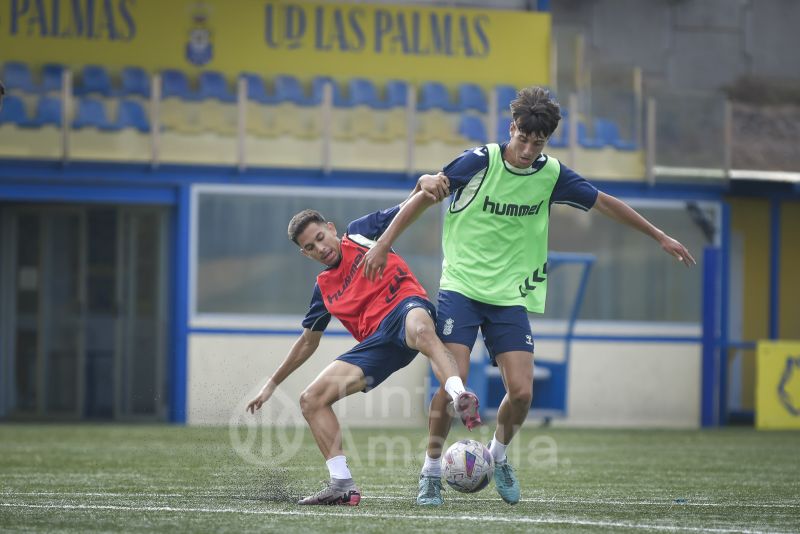
[[[0,0],[0,50],[5,61],[34,66],[546,85],[550,15],[277,0]]]

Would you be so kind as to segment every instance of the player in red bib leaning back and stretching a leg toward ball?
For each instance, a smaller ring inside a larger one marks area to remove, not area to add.
[[[406,202],[417,202],[421,195]],[[289,239],[325,270],[317,276],[303,333],[247,409],[254,413],[261,408],[278,384],[311,357],[331,316],[359,342],[328,365],[300,396],[303,417],[325,457],[330,481],[298,504],[358,505],[361,493],[347,467],[339,421],[331,407],[348,395],[375,388],[411,363],[418,352],[431,360],[467,428],[480,424],[478,398],[465,391],[455,359],[436,336],[433,304],[403,258],[390,252],[383,276],[374,281],[360,272],[364,255],[406,202],[351,222],[341,238],[334,224],[314,210],[301,211],[289,222]]]

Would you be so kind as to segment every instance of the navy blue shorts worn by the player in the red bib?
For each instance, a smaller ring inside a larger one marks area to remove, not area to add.
[[[364,341],[342,354],[337,360],[357,365],[364,371],[369,391],[402,369],[417,356],[419,351],[406,345],[406,315],[414,308],[425,309],[436,321],[436,309],[421,297],[408,297],[383,318],[378,329]]]

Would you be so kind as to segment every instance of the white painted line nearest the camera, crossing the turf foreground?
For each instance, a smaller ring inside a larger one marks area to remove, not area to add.
[[[721,534],[761,534],[760,530],[738,528],[707,528],[707,527],[679,527],[669,525],[654,525],[642,523],[626,523],[619,521],[587,521],[573,518],[534,518],[523,516],[468,516],[468,515],[412,515],[412,514],[386,514],[374,512],[318,512],[314,510],[247,510],[239,508],[179,508],[175,506],[119,506],[111,504],[27,504],[27,503],[0,503],[5,508],[33,508],[48,510],[117,510],[126,512],[180,512],[203,514],[248,514],[248,515],[277,515],[277,516],[305,516],[305,517],[367,517],[373,519],[400,519],[400,520],[444,520],[444,521],[480,521],[489,523],[531,523],[546,525],[577,525],[591,527],[627,528],[634,530],[659,530],[667,532],[716,532]]]

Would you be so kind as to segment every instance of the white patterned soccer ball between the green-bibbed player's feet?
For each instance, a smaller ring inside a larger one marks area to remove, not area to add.
[[[442,456],[442,470],[451,488],[462,493],[475,493],[491,482],[494,459],[482,443],[462,439],[450,445]]]

